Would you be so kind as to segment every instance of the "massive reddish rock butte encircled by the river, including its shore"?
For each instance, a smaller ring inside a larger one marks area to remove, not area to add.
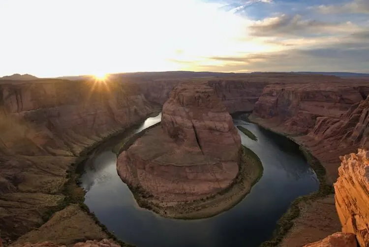
[[[140,206],[168,217],[200,218],[239,202],[260,175],[258,162],[245,155],[214,89],[184,83],[164,104],[161,125],[119,156],[117,170]]]

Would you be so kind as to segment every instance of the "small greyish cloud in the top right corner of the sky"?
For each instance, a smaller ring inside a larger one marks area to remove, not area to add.
[[[369,14],[368,0],[353,0],[345,4],[319,5],[317,9],[323,14],[357,13]]]

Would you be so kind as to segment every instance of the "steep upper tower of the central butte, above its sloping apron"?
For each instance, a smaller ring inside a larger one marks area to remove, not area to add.
[[[232,117],[214,90],[204,84],[185,83],[174,89],[163,106],[161,127],[185,149],[239,161],[241,138]]]

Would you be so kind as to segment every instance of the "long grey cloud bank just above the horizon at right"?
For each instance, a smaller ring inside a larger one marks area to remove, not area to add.
[[[361,71],[369,72],[369,48],[354,51],[340,49],[288,50],[270,54],[213,58],[224,66],[208,66],[209,71]]]

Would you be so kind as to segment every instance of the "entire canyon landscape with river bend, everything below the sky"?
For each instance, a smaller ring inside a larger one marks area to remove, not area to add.
[[[368,79],[207,76],[0,80],[0,245],[368,246]]]

